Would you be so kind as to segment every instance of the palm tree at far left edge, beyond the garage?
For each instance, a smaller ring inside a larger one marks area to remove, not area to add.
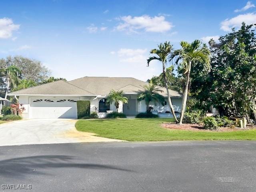
[[[1,72],[6,79],[6,92],[4,96],[4,98],[6,99],[9,90],[16,88],[21,71],[18,67],[11,65],[4,69],[1,69]]]

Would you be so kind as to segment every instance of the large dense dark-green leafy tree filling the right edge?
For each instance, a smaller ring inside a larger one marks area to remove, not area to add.
[[[191,92],[201,108],[210,105],[221,115],[255,116],[256,38],[255,25],[242,23],[239,30],[210,40],[212,70],[192,73]]]

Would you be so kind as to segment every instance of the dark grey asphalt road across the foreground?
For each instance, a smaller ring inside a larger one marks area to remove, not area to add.
[[[7,184],[32,189],[2,189]],[[256,142],[3,146],[0,191],[255,192]]]

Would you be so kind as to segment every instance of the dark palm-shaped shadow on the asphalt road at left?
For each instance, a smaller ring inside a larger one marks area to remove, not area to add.
[[[29,174],[47,175],[42,170],[52,170],[53,168],[79,168],[94,170],[120,170],[133,172],[113,165],[78,163],[78,159],[65,155],[42,155],[12,158],[0,161],[0,176],[12,178],[24,178]]]

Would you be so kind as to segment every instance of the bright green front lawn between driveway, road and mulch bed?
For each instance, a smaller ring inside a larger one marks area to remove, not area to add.
[[[76,129],[78,131],[96,133],[101,137],[127,141],[256,140],[256,130],[233,132],[168,130],[160,126],[163,122],[173,122],[173,119],[78,120]]]

